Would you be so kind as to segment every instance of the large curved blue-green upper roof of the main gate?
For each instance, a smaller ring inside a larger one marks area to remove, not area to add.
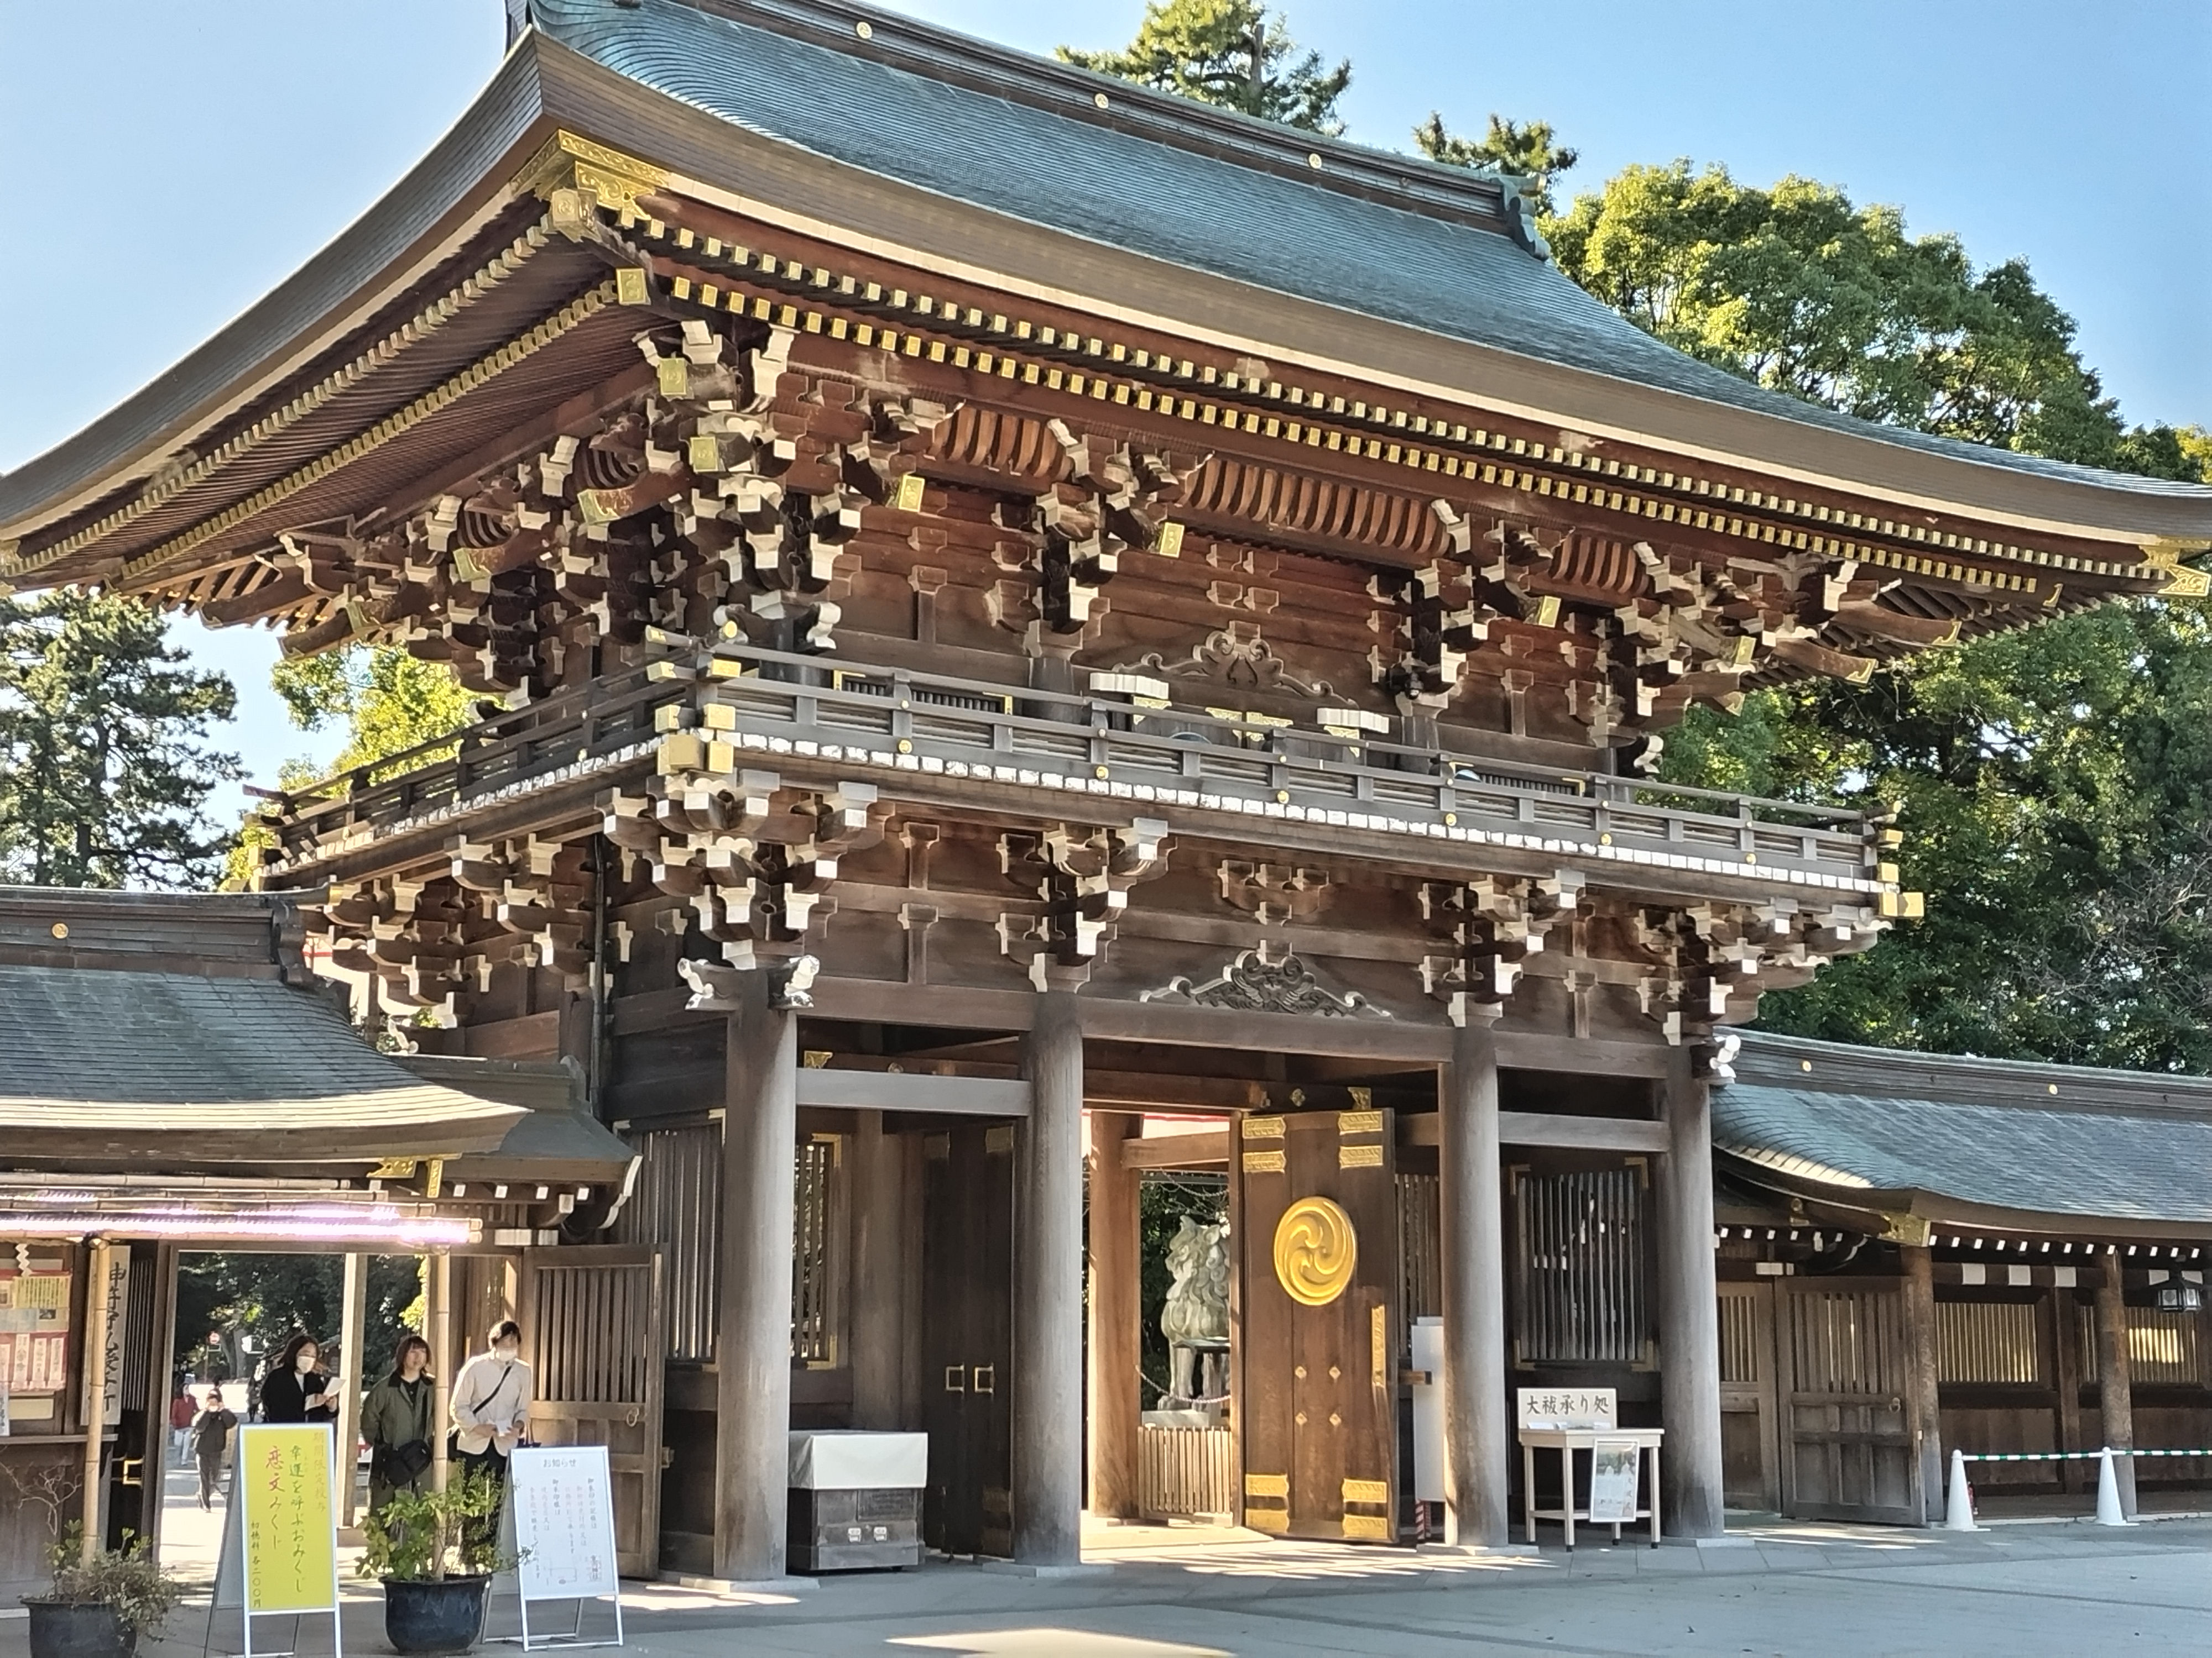
[[[876,46],[847,18],[876,15]],[[841,0],[531,0],[533,22],[555,42],[641,86],[732,126],[918,186],[991,212],[1128,248],[1152,259],[1298,298],[1321,301],[1431,334],[1632,380],[1708,402],[1860,438],[2110,489],[2201,495],[2212,489],[2148,478],[2119,480],[2084,466],[2004,449],[1878,427],[1801,402],[1683,356],[1584,294],[1557,267],[1467,214],[1420,212],[1365,199],[1334,181],[1294,179],[1225,159],[1212,128],[1245,124],[1252,144],[1283,128],[1186,106],[1177,141],[1175,99],[1093,77],[1108,102],[1139,102],[1144,133],[1040,106],[1026,80],[1064,82],[1082,71],[1022,60],[907,18]],[[843,46],[821,44],[843,20]],[[812,31],[807,29],[812,24]],[[812,38],[805,38],[810,35]],[[909,42],[880,62],[891,35]],[[911,42],[918,42],[911,44]],[[1004,95],[984,88],[987,57]],[[1336,157],[1360,170],[1396,170],[1413,188],[1444,172],[1420,157],[1383,155],[1296,135],[1325,175]],[[1431,188],[1440,190],[1440,181]],[[1418,199],[1416,199],[1416,206]]]

